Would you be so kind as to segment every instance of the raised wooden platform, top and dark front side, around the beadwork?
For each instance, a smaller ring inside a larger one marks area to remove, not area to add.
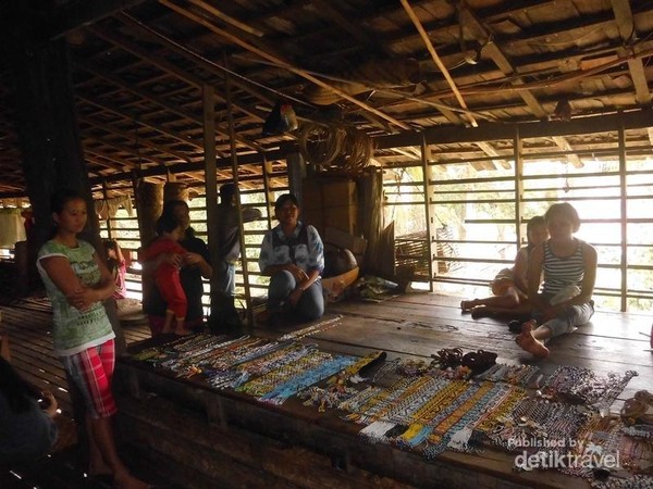
[[[506,364],[529,363],[552,373],[558,365],[586,366],[597,374],[636,369],[613,404],[653,386],[650,316],[597,313],[591,325],[551,342],[552,354],[534,362],[514,342],[505,324],[473,321],[458,309],[459,299],[420,293],[381,303],[331,304],[323,321],[342,317],[305,337],[320,349],[362,356],[371,350],[387,360],[430,360],[442,348],[484,349]],[[258,328],[275,339],[308,325]],[[144,342],[135,348],[151,344]],[[215,390],[194,376],[175,378],[150,365],[121,360],[119,417],[124,439],[141,460],[157,464],[171,480],[187,488],[212,487],[451,487],[583,488],[584,479],[554,471],[515,472],[515,455],[488,448],[480,455],[447,451],[435,460],[386,444],[365,442],[360,425],[342,413],[301,404],[257,402],[233,390]]]

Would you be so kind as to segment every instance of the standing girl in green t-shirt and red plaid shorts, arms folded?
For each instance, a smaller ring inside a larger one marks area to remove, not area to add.
[[[111,426],[114,334],[102,301],[113,294],[115,283],[95,248],[77,239],[87,220],[83,197],[59,192],[51,209],[56,231],[39,250],[37,268],[52,303],[54,353],[85,400],[89,473],[112,474],[120,489],[146,488],[120,460]]]

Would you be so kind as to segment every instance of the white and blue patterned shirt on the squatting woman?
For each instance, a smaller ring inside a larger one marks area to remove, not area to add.
[[[324,246],[318,230],[310,225],[306,226],[307,242],[298,239],[303,228],[301,223],[289,237],[286,237],[281,225],[266,233],[261,243],[259,267],[264,271],[270,265],[287,265],[293,263],[304,272],[324,269]],[[274,244],[274,243],[279,244]]]

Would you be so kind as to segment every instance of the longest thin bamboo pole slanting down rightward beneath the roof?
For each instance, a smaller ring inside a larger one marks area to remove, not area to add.
[[[349,93],[346,93],[345,91],[335,88],[326,83],[324,83],[323,80],[306,73],[304,70],[297,68],[296,66],[292,65],[289,62],[283,60],[281,57],[272,54],[263,49],[260,49],[254,45],[251,45],[250,42],[247,42],[243,39],[241,39],[238,36],[235,36],[231,33],[227,33],[226,30],[217,27],[214,24],[212,24],[211,22],[208,22],[207,20],[205,20],[204,17],[189,12],[188,10],[169,1],[169,0],[159,0],[159,3],[168,7],[169,9],[173,10],[174,12],[178,13],[180,15],[185,16],[186,18],[189,18],[196,23],[198,23],[199,25],[205,26],[206,28],[208,28],[209,30],[211,30],[212,33],[219,35],[220,37],[227,39],[231,42],[234,42],[236,45],[238,45],[241,48],[246,49],[250,52],[254,52],[255,54],[260,55],[261,58],[264,58],[267,60],[270,60],[274,63],[279,63],[281,64],[285,70],[289,71],[291,73],[294,73],[297,76],[300,76],[309,82],[312,82],[313,84],[326,89],[326,90],[331,90],[334,93],[336,93],[337,96],[342,97],[345,100],[348,100],[349,102],[358,105],[360,109],[371,112],[372,114],[378,115],[381,118],[384,118],[385,121],[394,124],[397,127],[401,127],[402,129],[410,129],[410,126],[404,124],[401,121],[395,120],[394,117],[374,109],[373,106],[361,102],[360,100],[356,99],[355,97],[352,97]]]

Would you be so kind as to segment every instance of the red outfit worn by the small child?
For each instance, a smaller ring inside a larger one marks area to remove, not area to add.
[[[147,247],[143,253],[143,260],[147,262],[162,253],[185,254],[186,250],[172,239],[160,238]],[[188,301],[180,281],[180,269],[170,263],[161,262],[155,271],[155,284],[163,296],[168,310],[172,311],[177,318],[186,317]]]

